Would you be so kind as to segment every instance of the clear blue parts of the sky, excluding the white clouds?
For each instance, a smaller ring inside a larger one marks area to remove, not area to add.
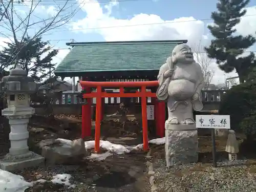
[[[102,2],[102,0],[99,0]],[[106,2],[104,0],[104,2]],[[118,6],[113,7],[111,16],[118,19],[131,19],[134,15],[141,13],[154,14],[160,16],[163,20],[173,20],[180,17],[194,17],[195,19],[208,19],[212,11],[216,10],[217,1],[205,0],[157,0],[157,1],[126,1],[119,2]],[[106,3],[100,3],[103,8]],[[256,1],[251,1],[248,7],[256,6]],[[106,12],[106,9],[103,8]],[[78,20],[86,17],[87,13],[79,11],[73,20]],[[256,16],[255,16],[256,18]],[[210,20],[205,23],[211,23]],[[206,26],[205,26],[206,28]],[[207,29],[206,29],[207,31]],[[75,34],[74,34],[75,32]],[[46,37],[48,38],[48,37]],[[55,35],[49,36],[53,39],[75,39],[76,41],[104,41],[104,37],[98,33],[90,33],[84,35],[79,31],[65,31],[61,34],[58,32]],[[59,42],[58,45],[65,45],[65,42]]]

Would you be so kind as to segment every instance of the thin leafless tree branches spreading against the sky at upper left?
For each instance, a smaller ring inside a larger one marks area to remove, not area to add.
[[[7,0],[0,0],[0,5],[4,4],[3,1],[7,2]],[[22,0],[22,2],[15,3],[14,0],[11,0],[8,5],[5,5],[4,16],[0,15],[0,18],[6,20],[4,26],[1,25],[0,28],[3,27],[4,31],[10,31],[13,41],[16,44],[16,50],[13,51],[10,60],[7,61],[8,65],[12,65],[13,61],[17,59],[18,53],[22,49],[26,49],[29,42],[24,42],[25,37],[29,37],[31,40],[41,37],[46,32],[67,24],[81,9],[80,5],[77,5],[75,9],[73,9],[75,5],[69,4],[72,0],[61,1],[61,4],[54,1],[54,12],[48,16],[42,14],[42,16],[45,17],[40,17],[37,11],[41,10],[41,7],[39,7],[41,0],[30,0],[28,1],[29,3],[26,1],[27,0]],[[23,7],[28,9],[25,14],[19,14],[17,12],[20,8],[20,4],[23,4]],[[16,6],[18,6],[17,9],[15,9]],[[2,7],[4,7],[4,5],[2,5]],[[34,31],[34,33],[32,33],[32,31]],[[1,32],[4,33],[3,30],[1,30]]]

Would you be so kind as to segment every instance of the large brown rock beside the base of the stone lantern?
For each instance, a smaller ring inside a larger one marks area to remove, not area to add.
[[[39,142],[41,155],[50,164],[75,164],[87,156],[86,147],[83,139],[77,139],[71,144],[63,144],[58,140],[42,140]]]

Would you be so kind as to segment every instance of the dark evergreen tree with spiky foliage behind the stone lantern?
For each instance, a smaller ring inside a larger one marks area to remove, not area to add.
[[[56,64],[52,63],[52,58],[58,53],[58,50],[51,49],[52,47],[48,45],[48,42],[42,41],[41,37],[24,38],[20,44],[8,42],[7,47],[0,52],[2,71],[12,66],[16,61],[36,81],[49,78]]]

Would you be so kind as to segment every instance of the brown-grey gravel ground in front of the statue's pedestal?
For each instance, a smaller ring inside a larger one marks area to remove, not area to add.
[[[155,160],[159,191],[164,192],[252,192],[256,191],[256,165],[249,160],[194,163],[166,168],[164,160]]]

